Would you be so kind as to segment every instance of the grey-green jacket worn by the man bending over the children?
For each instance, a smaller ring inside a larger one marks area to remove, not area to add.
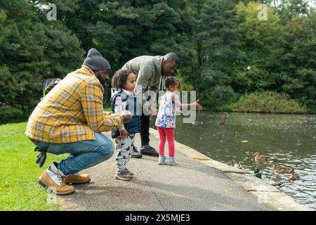
[[[123,66],[123,70],[131,70],[136,76],[136,86],[142,86],[143,94],[147,88],[156,94],[159,90],[159,82],[162,77],[162,61],[164,56],[138,56],[129,60]],[[136,95],[140,94],[140,90],[136,89]],[[147,102],[147,98],[143,96],[142,103]],[[150,109],[150,108],[149,108]]]

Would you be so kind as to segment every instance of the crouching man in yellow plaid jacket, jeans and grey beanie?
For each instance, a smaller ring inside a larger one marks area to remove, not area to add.
[[[93,167],[114,153],[110,139],[101,134],[129,122],[127,112],[103,112],[104,87],[110,63],[90,49],[79,70],[70,72],[37,105],[29,117],[25,134],[39,148],[55,155],[70,153],[53,162],[39,177],[39,184],[58,195],[74,193],[74,186],[90,181],[79,172]]]

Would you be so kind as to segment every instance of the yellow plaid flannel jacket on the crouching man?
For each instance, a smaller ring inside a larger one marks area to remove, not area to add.
[[[37,105],[25,134],[46,143],[95,140],[94,132],[121,127],[119,114],[103,112],[103,86],[86,65],[68,74]]]

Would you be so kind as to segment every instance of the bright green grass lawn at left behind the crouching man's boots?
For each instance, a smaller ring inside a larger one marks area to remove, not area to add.
[[[35,146],[24,134],[26,125],[0,125],[0,210],[61,210],[60,203],[50,203],[51,194],[37,179],[53,160],[67,155],[48,154],[39,168]]]

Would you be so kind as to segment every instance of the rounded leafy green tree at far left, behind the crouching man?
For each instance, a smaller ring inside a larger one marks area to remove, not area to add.
[[[0,102],[29,113],[41,82],[76,69],[84,52],[77,37],[32,2],[0,1],[0,8]]]

